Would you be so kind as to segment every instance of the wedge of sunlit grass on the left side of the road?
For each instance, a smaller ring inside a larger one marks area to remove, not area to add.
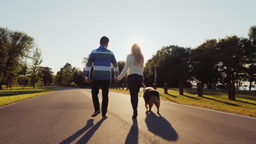
[[[11,91],[10,91],[10,88],[8,89],[4,88],[0,90],[0,107],[9,105],[12,103],[16,103],[21,100],[36,97],[38,95],[42,95],[45,93],[49,93],[57,89],[60,89],[60,88],[37,87],[36,91],[31,87],[24,87],[24,90],[22,90],[22,87],[13,87]]]

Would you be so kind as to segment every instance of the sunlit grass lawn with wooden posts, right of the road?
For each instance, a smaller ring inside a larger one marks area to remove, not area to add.
[[[157,89],[164,101],[256,117],[256,91],[236,91],[236,100],[232,101],[228,99],[228,90],[203,89],[203,97],[198,97],[196,89],[185,88],[184,95],[179,95],[178,88],[168,88],[168,94],[164,94],[164,88]],[[126,88],[109,91],[130,94]],[[142,93],[141,88],[139,97]]]

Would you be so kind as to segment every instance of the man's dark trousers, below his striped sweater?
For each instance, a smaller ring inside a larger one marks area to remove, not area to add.
[[[100,91],[100,87],[102,89],[102,105],[101,105],[102,116],[106,115],[108,110],[109,86],[110,86],[110,80],[92,80],[91,95],[92,95],[92,101],[94,102],[95,111],[100,110],[100,102],[98,101],[98,92]]]

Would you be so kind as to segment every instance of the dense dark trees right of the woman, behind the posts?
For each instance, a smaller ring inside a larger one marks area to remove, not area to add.
[[[164,83],[170,87],[178,87],[178,83],[191,87],[201,82],[207,88],[224,89],[228,82],[233,82],[239,89],[248,81],[251,90],[256,81],[256,26],[249,29],[248,36],[210,39],[196,49],[164,46],[147,61],[144,82],[152,85],[156,69],[159,87]]]

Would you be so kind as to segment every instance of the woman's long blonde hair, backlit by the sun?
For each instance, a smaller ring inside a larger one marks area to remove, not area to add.
[[[143,65],[144,57],[141,52],[141,47],[138,44],[133,44],[131,48],[131,54],[134,56],[134,65]]]

